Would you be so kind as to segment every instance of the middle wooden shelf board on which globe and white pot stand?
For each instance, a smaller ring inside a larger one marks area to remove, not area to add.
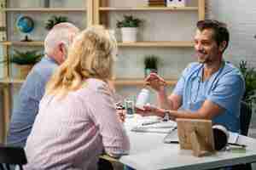
[[[1,42],[6,46],[44,46],[44,42]],[[118,42],[119,47],[137,47],[137,48],[172,48],[172,47],[194,47],[193,42],[189,41],[163,41],[163,42]]]

